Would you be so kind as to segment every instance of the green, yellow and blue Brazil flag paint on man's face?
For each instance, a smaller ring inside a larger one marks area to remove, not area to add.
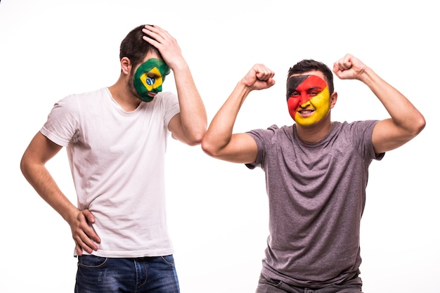
[[[144,102],[151,102],[154,96],[148,93],[159,93],[162,91],[162,83],[170,70],[162,60],[151,58],[138,67],[134,74],[134,89]]]

